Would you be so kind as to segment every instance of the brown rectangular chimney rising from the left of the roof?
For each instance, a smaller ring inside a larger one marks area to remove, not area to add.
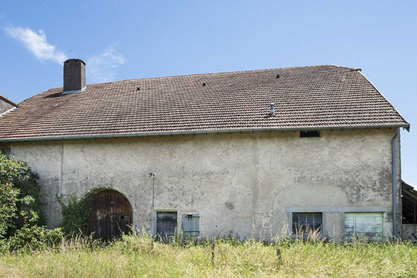
[[[64,61],[64,92],[85,88],[85,63],[81,59]]]

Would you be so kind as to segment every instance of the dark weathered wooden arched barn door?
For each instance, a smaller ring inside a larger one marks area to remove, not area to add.
[[[89,232],[94,237],[111,240],[129,233],[132,226],[132,206],[122,193],[103,190],[90,196]]]

